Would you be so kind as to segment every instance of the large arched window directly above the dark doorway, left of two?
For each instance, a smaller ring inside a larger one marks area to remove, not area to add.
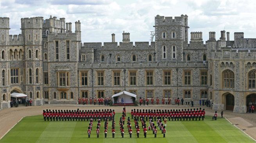
[[[235,88],[235,74],[231,70],[222,73],[222,83],[224,88]]]

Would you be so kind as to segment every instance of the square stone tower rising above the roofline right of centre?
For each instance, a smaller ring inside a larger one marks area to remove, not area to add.
[[[188,16],[155,17],[156,61],[183,61],[188,43]]]

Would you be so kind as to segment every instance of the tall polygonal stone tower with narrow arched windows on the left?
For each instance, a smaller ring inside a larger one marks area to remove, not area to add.
[[[43,104],[42,28],[43,17],[21,18],[21,33],[25,38],[26,93],[34,105]]]

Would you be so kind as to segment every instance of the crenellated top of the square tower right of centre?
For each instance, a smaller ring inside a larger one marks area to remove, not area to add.
[[[188,26],[188,16],[181,15],[179,17],[165,17],[157,15],[155,17],[155,26]]]

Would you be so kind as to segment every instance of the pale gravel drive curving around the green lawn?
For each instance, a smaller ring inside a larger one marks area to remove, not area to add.
[[[206,106],[200,106],[201,108],[205,108],[206,115],[213,116],[214,110]],[[193,107],[193,108],[200,108]],[[104,105],[71,105],[71,104],[57,104],[57,105],[43,105],[43,106],[20,106],[18,108],[8,108],[4,110],[0,110],[0,138],[13,127],[22,117],[25,116],[33,116],[33,115],[41,115],[42,111],[45,109],[51,110],[76,110],[79,108],[80,110],[98,110],[98,109],[112,109],[115,112],[122,112],[122,106],[104,106]],[[188,109],[192,108],[187,105],[145,105],[145,106],[126,106],[127,112],[131,112],[131,109],[161,109],[161,110],[170,110],[170,109]],[[220,117],[220,112],[218,112]],[[235,126],[239,127],[245,133],[249,134],[252,138],[256,139],[256,113],[233,113],[231,111],[224,111],[224,117],[230,120]]]

